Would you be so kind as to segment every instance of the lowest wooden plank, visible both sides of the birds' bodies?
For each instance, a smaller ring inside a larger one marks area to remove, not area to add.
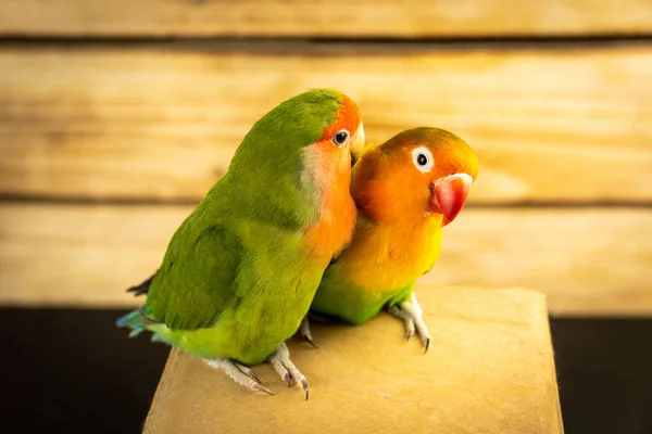
[[[1,204],[0,303],[135,306],[125,289],[190,210]],[[651,264],[651,209],[466,209],[419,284],[543,291],[553,314],[650,315]]]

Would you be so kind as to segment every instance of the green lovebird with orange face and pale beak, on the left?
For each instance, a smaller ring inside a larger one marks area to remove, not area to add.
[[[273,394],[249,368],[269,361],[308,399],[285,341],[351,240],[351,153],[363,148],[358,106],[337,90],[274,107],[175,231],[155,273],[128,290],[147,294],[145,305],[116,324],[130,336],[150,331],[251,391]]]

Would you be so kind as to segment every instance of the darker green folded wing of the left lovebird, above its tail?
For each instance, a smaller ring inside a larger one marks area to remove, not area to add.
[[[211,327],[238,298],[234,282],[243,254],[238,238],[220,225],[197,229],[193,218],[174,234],[145,306],[148,318],[171,330]]]

